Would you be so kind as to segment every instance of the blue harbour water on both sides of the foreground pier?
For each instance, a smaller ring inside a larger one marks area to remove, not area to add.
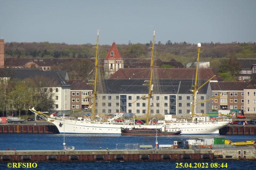
[[[0,150],[62,150],[63,134],[0,134]],[[256,140],[255,135],[185,135],[185,136],[159,136],[160,145],[173,144],[176,139],[214,138],[223,137],[231,141]],[[74,146],[76,149],[102,149],[109,148],[125,149],[124,144],[145,144],[154,145],[155,136],[122,136],[122,135],[65,135],[67,146]],[[118,146],[116,144],[119,144]],[[179,162],[84,162],[84,163],[37,163],[36,169],[188,169],[175,168]],[[183,162],[185,163],[185,162]],[[192,162],[194,163],[194,162]],[[196,163],[196,162],[195,162]],[[207,162],[209,165],[214,162]],[[226,161],[225,169],[254,169],[256,161]],[[0,170],[7,169],[6,163],[0,164]],[[9,168],[10,169],[10,168]],[[17,169],[17,168],[15,168]],[[193,169],[216,169],[216,168],[193,168]],[[223,169],[223,168],[222,168]]]

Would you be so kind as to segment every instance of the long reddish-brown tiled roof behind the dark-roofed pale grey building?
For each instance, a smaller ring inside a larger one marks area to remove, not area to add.
[[[154,74],[159,79],[195,79],[195,68],[156,68]],[[224,79],[214,69],[199,69],[200,79],[208,80],[216,75],[212,80],[223,81]],[[149,68],[124,68],[112,74],[109,79],[149,79]]]

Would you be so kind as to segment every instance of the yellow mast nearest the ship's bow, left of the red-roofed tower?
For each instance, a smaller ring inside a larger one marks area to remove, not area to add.
[[[92,119],[95,119],[95,108],[96,108],[96,96],[97,96],[97,71],[98,67],[101,65],[98,65],[98,60],[97,60],[97,54],[98,54],[98,43],[99,43],[99,30],[97,30],[97,44],[96,44],[96,54],[95,54],[95,76],[94,80],[89,80],[92,83],[87,83],[91,84],[94,86],[94,91],[93,91],[93,106],[92,106]]]

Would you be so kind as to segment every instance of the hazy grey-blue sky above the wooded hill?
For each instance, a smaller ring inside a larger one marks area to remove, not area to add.
[[[0,39],[67,44],[255,42],[256,0],[0,0]]]

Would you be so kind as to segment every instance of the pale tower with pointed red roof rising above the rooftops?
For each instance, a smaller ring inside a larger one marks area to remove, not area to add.
[[[119,54],[115,41],[112,43],[107,56],[104,59],[105,78],[109,78],[118,69],[123,68],[123,58]]]

